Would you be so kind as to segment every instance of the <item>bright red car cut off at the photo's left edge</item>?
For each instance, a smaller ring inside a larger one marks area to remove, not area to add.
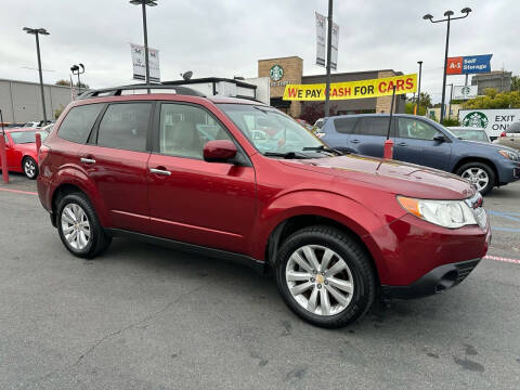
[[[31,128],[5,129],[5,153],[8,155],[8,169],[12,172],[23,172],[29,179],[38,176],[38,164],[36,162],[35,135],[39,132],[41,141],[49,135],[47,130]],[[0,133],[1,136],[1,133]],[[0,159],[0,169],[2,161]]]

